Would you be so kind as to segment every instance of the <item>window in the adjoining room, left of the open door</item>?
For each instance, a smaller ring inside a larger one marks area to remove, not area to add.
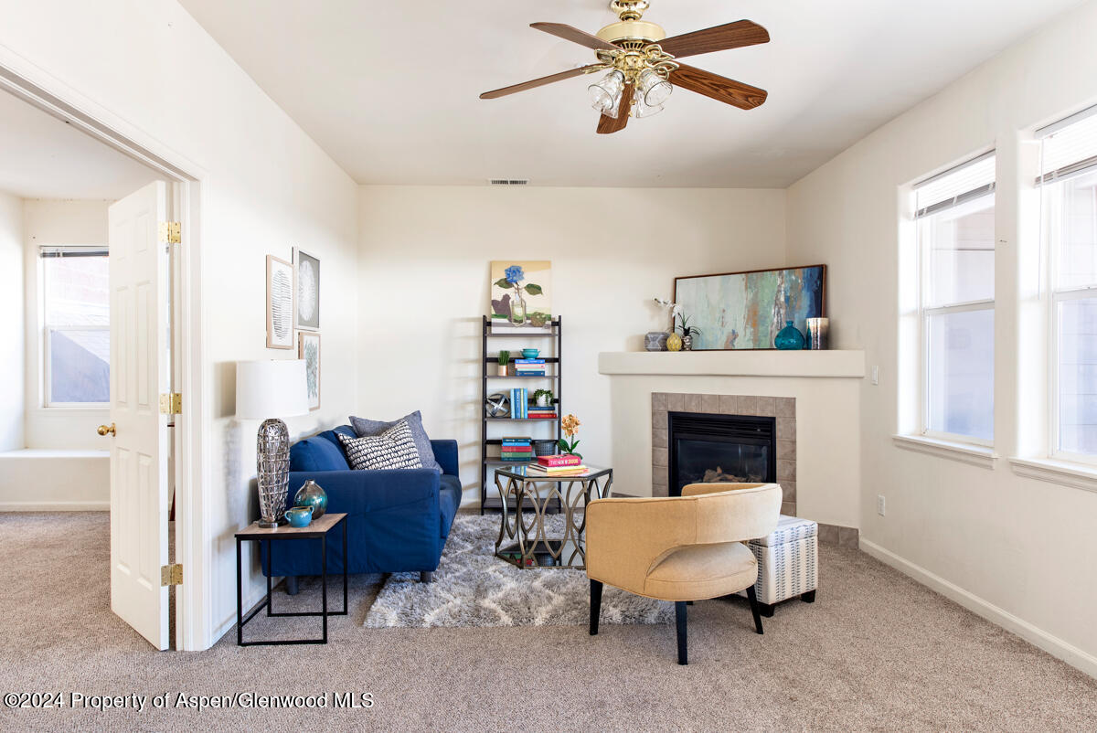
[[[102,407],[111,395],[110,275],[102,247],[43,247],[46,407]]]

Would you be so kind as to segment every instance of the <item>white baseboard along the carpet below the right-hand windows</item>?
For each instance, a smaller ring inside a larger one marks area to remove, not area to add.
[[[998,608],[994,604],[983,600],[979,596],[964,590],[954,583],[950,583],[939,575],[935,575],[926,568],[915,565],[908,560],[900,557],[891,550],[885,550],[874,542],[870,542],[869,540],[862,538],[861,550],[885,565],[890,565],[904,575],[913,577],[918,583],[936,590],[946,598],[960,604],[969,611],[983,617],[987,621],[1002,627],[1006,631],[1017,634],[1025,641],[1043,650],[1055,658],[1062,659],[1066,664],[1086,673],[1090,677],[1097,677],[1097,656],[1094,656],[1093,654],[1063,641],[1059,636],[1053,636],[1039,627],[1014,616],[1005,609]]]

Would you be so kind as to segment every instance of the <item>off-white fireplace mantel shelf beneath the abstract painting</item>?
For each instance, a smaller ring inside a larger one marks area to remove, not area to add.
[[[864,379],[864,352],[829,351],[603,351],[598,371],[614,375],[792,376]]]

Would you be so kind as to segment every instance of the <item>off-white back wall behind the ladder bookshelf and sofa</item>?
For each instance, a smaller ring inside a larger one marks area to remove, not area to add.
[[[552,261],[563,408],[583,420],[580,452],[593,463],[611,451],[598,353],[640,350],[644,332],[667,327],[652,298],[669,297],[675,275],[784,263],[779,190],[363,187],[360,201],[358,409],[385,419],[421,409],[431,437],[456,439],[466,504],[479,498],[491,260]]]

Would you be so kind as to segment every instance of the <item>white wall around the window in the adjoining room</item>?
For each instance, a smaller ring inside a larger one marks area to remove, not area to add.
[[[109,422],[108,409],[44,408],[43,345],[38,303],[38,247],[106,245],[106,208],[110,201],[23,201],[26,303],[25,435],[27,448],[54,450],[109,450],[110,441],[95,428]],[[97,489],[97,494],[100,494]],[[76,497],[73,498],[76,500]]]

